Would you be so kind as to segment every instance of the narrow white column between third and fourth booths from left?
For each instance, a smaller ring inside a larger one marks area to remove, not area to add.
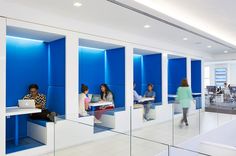
[[[168,55],[162,53],[162,103],[168,104]]]

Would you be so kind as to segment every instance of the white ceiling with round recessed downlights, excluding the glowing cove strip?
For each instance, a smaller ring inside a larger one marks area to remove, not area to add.
[[[189,51],[201,51],[210,54],[222,54],[224,50],[228,50],[233,53],[236,52],[234,48],[236,46],[225,42],[221,38],[217,38],[212,34],[207,34],[194,27],[179,22],[173,18],[170,18],[164,14],[160,14],[153,9],[140,5],[133,0],[119,0],[132,7],[141,9],[154,16],[161,17],[165,20],[183,26],[191,31],[200,33],[207,37],[211,37],[214,40],[220,41],[228,46],[233,47],[229,49],[226,46],[214,43],[210,40],[196,36],[189,32],[185,32],[178,28],[169,26],[160,21],[151,19],[136,12],[127,10],[106,0],[78,0],[83,4],[82,7],[76,8],[73,6],[74,0],[1,0],[4,3],[18,4],[26,7],[48,12],[58,16],[66,17],[68,19],[83,21],[90,23],[91,25],[101,25],[107,28],[116,29],[128,34],[135,34],[143,38],[148,38],[156,41],[157,43],[169,43],[189,49]],[[233,17],[236,13],[232,8],[233,0],[220,1],[220,0],[205,0],[204,3],[200,3],[199,0],[156,0],[165,5],[172,5],[176,9],[185,10],[189,17],[197,17],[202,19],[207,25],[215,26],[220,29],[224,34],[230,35],[232,38],[236,36],[236,20]],[[145,24],[151,25],[151,28],[144,29]],[[210,27],[211,28],[211,27]],[[216,28],[215,28],[216,29]],[[184,41],[183,38],[187,37],[188,40]],[[236,39],[235,39],[236,41]],[[212,48],[207,48],[211,45]]]

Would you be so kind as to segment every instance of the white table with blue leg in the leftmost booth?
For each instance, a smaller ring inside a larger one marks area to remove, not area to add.
[[[19,115],[40,113],[41,109],[22,109],[17,106],[6,108],[6,117],[15,117],[15,145],[19,144]]]

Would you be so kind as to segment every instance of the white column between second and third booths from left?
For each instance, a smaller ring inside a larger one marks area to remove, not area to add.
[[[133,106],[133,48],[125,47],[125,107],[129,110]]]

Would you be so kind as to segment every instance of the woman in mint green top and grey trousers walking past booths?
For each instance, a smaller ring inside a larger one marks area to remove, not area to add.
[[[183,79],[181,82],[181,86],[177,90],[177,101],[180,103],[183,109],[183,118],[181,120],[181,126],[183,123],[188,126],[187,114],[192,100],[193,96],[191,88],[188,85],[187,79]]]

